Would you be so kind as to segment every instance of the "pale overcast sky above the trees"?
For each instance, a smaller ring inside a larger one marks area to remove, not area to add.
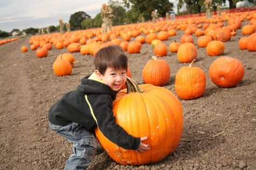
[[[69,21],[70,15],[84,11],[92,18],[109,0],[0,0],[0,30],[11,32],[29,27],[57,26],[58,20]],[[118,0],[123,2],[122,0]],[[175,0],[170,0],[176,6]],[[174,12],[177,12],[174,9]]]

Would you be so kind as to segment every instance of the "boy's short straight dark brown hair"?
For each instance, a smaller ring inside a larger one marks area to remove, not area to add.
[[[107,67],[113,69],[126,69],[128,59],[123,49],[119,45],[110,45],[99,49],[94,58],[95,69],[104,75]]]

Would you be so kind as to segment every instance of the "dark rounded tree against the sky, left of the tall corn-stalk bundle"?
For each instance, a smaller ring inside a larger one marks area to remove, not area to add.
[[[87,15],[87,13],[83,11],[79,11],[76,13],[73,13],[70,16],[69,23],[70,23],[70,30],[80,30],[82,29],[82,21],[84,19],[91,18],[91,16]]]

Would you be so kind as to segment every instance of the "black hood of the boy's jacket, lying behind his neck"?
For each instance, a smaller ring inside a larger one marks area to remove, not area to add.
[[[107,94],[111,95],[113,99],[116,98],[116,93],[109,86],[87,79],[87,77],[81,79],[81,84],[77,87],[76,92],[78,95]]]

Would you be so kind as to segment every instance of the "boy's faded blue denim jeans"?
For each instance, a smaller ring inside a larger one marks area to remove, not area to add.
[[[96,155],[99,145],[96,137],[84,126],[74,122],[64,126],[49,122],[49,127],[73,144],[73,154],[66,161],[64,169],[86,169]]]

